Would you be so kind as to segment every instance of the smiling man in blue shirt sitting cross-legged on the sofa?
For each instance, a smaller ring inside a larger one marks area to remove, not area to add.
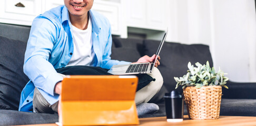
[[[33,21],[24,60],[24,72],[30,81],[21,93],[19,111],[32,111],[32,107],[34,112],[58,111],[63,75],[56,70],[81,65],[101,70],[130,64],[111,60],[110,23],[91,10],[93,0],[64,0],[64,3],[65,6],[53,8]],[[154,59],[155,55],[143,56],[137,62]],[[149,101],[160,90],[163,79],[159,70],[154,69],[151,76],[156,81],[136,92],[136,104]]]

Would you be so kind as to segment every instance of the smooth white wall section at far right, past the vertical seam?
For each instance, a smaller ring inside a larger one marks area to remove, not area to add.
[[[254,1],[215,0],[213,6],[215,65],[229,72],[231,80],[255,81]]]

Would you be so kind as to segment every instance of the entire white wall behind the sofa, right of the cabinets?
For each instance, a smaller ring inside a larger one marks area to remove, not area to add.
[[[214,67],[232,81],[256,81],[254,0],[172,0],[171,41],[210,46]]]

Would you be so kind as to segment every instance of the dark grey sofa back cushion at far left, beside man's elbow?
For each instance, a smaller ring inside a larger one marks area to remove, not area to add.
[[[23,72],[26,43],[0,36],[0,109],[18,110],[21,91],[28,82]]]

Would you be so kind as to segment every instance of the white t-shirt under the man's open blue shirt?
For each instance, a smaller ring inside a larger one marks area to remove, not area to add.
[[[87,29],[81,30],[73,25],[72,29],[74,52],[67,66],[93,65],[95,53],[93,51],[91,18],[89,18]]]

